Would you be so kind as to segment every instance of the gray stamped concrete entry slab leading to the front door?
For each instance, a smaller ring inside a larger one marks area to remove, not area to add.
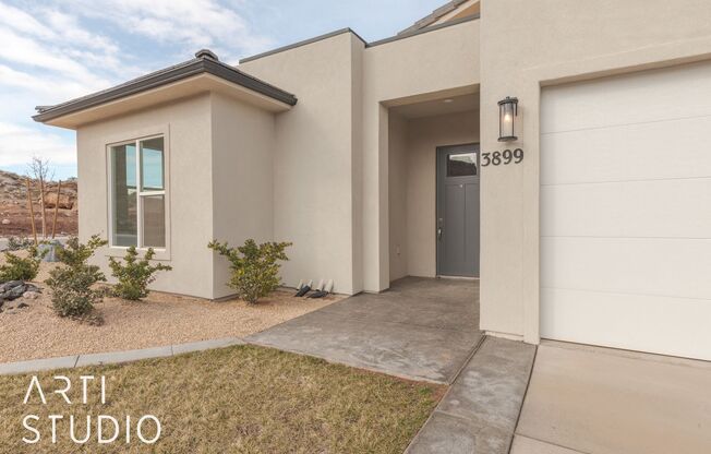
[[[407,277],[248,337],[393,375],[450,383],[482,334],[475,280]]]

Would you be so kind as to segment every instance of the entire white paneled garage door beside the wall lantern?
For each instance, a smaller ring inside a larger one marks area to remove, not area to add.
[[[545,88],[541,335],[711,360],[711,64]]]

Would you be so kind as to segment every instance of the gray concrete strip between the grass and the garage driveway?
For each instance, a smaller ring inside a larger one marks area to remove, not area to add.
[[[535,347],[486,337],[407,454],[507,454]]]

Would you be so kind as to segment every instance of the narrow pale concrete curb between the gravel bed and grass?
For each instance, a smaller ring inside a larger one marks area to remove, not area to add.
[[[117,365],[142,359],[166,358],[192,351],[224,348],[242,345],[237,337],[193,342],[189,344],[168,345],[165,347],[144,348],[141,350],[110,351],[105,354],[72,355],[59,358],[34,359],[31,361],[0,363],[0,375],[40,372],[52,369],[71,369],[85,366]]]

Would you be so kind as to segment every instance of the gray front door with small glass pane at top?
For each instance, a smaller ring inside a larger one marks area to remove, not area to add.
[[[479,277],[479,145],[437,148],[437,275]]]

